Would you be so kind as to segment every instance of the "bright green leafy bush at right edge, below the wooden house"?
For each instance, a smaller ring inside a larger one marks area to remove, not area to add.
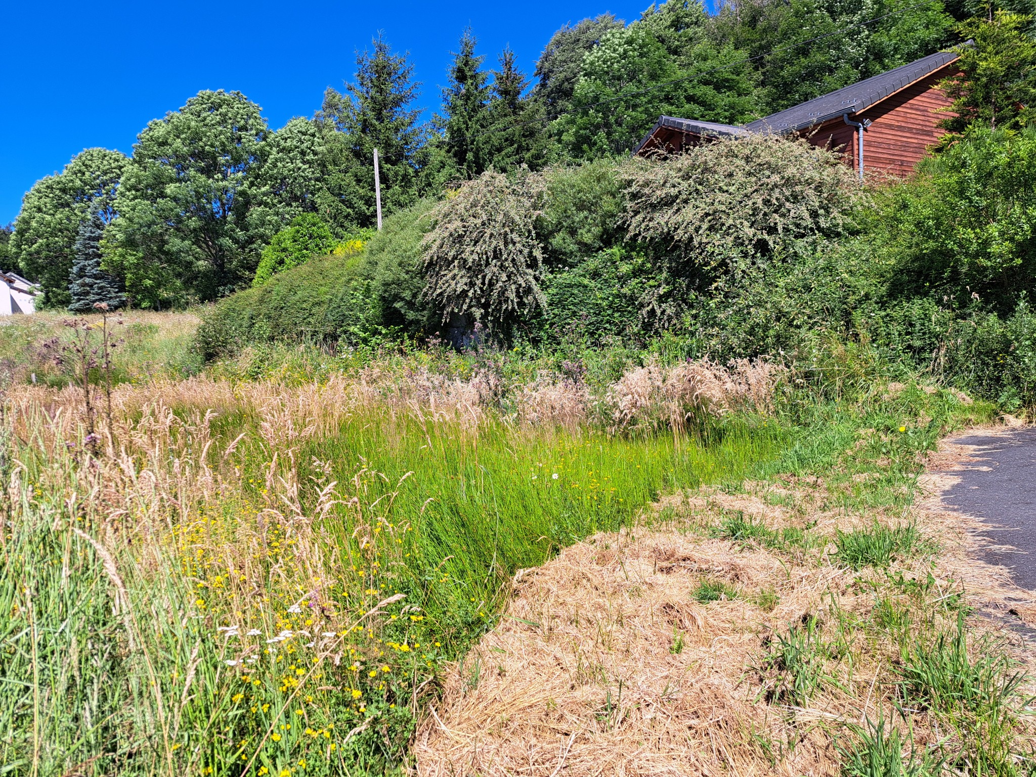
[[[1036,291],[1036,128],[975,128],[883,193],[869,230],[896,298],[1001,313]]]

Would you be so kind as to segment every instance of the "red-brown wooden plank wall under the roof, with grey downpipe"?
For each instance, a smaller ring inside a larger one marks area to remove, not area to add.
[[[873,170],[897,177],[910,175],[928,148],[939,142],[946,132],[939,122],[948,115],[940,109],[948,108],[950,100],[936,87],[949,75],[946,70],[938,70],[861,112],[860,116],[872,122],[863,133],[865,174]],[[860,121],[860,116],[852,118]],[[856,169],[856,128],[841,118],[823,124],[810,142],[842,146],[845,161]]]

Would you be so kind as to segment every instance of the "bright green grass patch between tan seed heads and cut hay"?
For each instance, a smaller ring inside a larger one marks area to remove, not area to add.
[[[463,651],[491,625],[518,569],[644,520],[643,508],[662,494],[748,477],[779,455],[789,434],[750,421],[694,440],[494,423],[465,431],[414,415],[358,416],[304,447],[300,460],[334,462],[342,484],[362,472],[363,500],[391,505],[379,518],[407,526],[402,555],[379,547],[395,566],[382,559],[366,589],[406,594],[426,615],[421,629],[411,629],[424,631],[415,638],[434,635]],[[336,552],[362,555],[347,510],[326,529]]]

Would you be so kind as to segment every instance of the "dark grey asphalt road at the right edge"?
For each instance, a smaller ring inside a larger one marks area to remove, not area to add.
[[[944,492],[943,503],[981,519],[987,528],[980,534],[994,545],[1011,546],[986,549],[985,560],[1036,591],[1036,428],[954,441],[976,445],[979,460],[953,472],[960,482]]]

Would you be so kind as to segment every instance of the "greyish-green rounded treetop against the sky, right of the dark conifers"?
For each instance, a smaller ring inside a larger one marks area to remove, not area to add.
[[[533,89],[533,96],[543,103],[550,118],[572,107],[586,53],[601,42],[606,32],[624,26],[611,13],[602,13],[575,27],[565,25],[551,36],[536,63],[537,84]]]

